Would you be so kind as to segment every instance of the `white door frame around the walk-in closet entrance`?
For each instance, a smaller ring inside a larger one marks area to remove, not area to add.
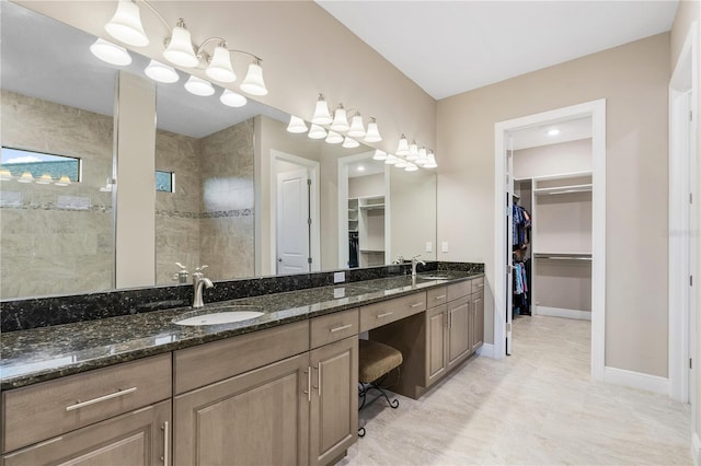
[[[556,108],[494,125],[494,231],[506,231],[506,141],[509,132],[556,120],[591,117],[591,376],[604,380],[606,366],[606,98]],[[494,357],[506,356],[506,235],[497,233],[494,248]]]

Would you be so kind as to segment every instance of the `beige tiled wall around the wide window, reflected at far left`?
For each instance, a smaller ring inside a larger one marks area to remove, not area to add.
[[[0,298],[108,290],[114,276],[113,118],[2,91],[2,145],[80,158],[82,178],[70,186],[0,183]],[[12,196],[12,195],[10,195]],[[88,199],[90,210],[59,206],[59,196]]]

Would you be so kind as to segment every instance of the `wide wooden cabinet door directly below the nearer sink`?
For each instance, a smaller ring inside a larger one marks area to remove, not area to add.
[[[175,397],[176,465],[308,463],[309,354]]]

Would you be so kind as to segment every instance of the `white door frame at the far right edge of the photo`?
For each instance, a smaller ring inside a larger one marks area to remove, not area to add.
[[[698,339],[694,313],[691,312],[698,303],[690,295],[687,276],[698,271],[697,257],[689,255],[692,242],[699,251],[698,235],[692,231],[694,225],[690,224],[699,200],[689,202],[689,195],[693,193],[698,198],[699,193],[696,189],[698,179],[693,186],[689,175],[698,163],[691,154],[698,153],[699,135],[698,125],[689,124],[688,112],[694,115],[694,120],[698,118],[698,34],[694,22],[669,80],[669,396],[681,403],[689,403],[691,398],[692,407],[696,399],[690,396],[690,384],[698,381],[690,374],[688,358],[692,357]],[[689,101],[685,102],[687,95]],[[692,409],[692,427],[697,421],[696,409]]]

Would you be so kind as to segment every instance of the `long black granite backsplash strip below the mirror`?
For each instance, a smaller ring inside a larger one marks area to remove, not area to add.
[[[426,266],[420,265],[417,271],[430,271],[437,268],[440,270],[460,270],[467,272],[484,271],[483,264],[435,261],[427,263]],[[217,281],[215,288],[205,290],[204,298],[206,303],[212,303],[260,296],[263,294],[329,287],[334,284],[333,275],[336,271],[345,272],[345,281],[350,283],[409,275],[411,273],[411,265],[402,264]],[[2,331],[26,330],[51,325],[72,324],[82,321],[141,314],[172,307],[184,307],[188,306],[192,300],[192,284],[7,300],[0,301],[0,329],[2,329]]]

